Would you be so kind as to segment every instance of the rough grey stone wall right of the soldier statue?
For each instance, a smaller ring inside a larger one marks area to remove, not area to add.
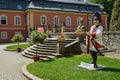
[[[113,51],[120,52],[120,31],[119,32],[104,32],[103,43]]]

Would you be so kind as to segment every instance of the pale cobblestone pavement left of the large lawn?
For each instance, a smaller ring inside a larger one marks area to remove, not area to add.
[[[0,80],[28,80],[22,73],[22,66],[33,60],[15,51],[4,51],[6,46],[0,44]]]

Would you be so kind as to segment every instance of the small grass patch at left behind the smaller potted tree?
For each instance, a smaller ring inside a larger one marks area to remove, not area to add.
[[[6,50],[9,50],[9,51],[17,50],[17,47],[18,47],[17,44],[16,45],[10,45],[10,46],[6,47]],[[26,48],[30,47],[30,44],[20,44],[19,47],[22,48],[22,49],[26,49]]]

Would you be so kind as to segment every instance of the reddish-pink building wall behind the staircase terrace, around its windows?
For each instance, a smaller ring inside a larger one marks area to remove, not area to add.
[[[56,11],[36,11],[33,10],[33,16],[34,16],[34,27],[35,26],[43,26],[41,25],[41,21],[40,21],[40,17],[42,15],[47,17],[47,25],[50,25],[52,28],[54,27],[54,23],[53,23],[53,18],[54,16],[58,16],[59,17],[59,25],[58,27],[61,27],[61,24],[63,21],[66,21],[66,17],[71,17],[71,26],[66,26],[66,31],[75,31],[77,25],[77,18],[80,17],[83,19],[83,24],[87,27],[87,31],[89,31],[90,26],[88,19],[92,20],[92,14],[81,14],[81,13],[73,13],[73,12],[56,12]],[[102,21],[101,21],[101,25],[104,27],[104,30],[107,30],[107,16],[106,15],[102,15]],[[32,22],[30,22],[32,23]]]

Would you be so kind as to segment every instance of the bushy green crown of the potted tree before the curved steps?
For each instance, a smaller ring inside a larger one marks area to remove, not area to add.
[[[27,41],[32,44],[43,43],[47,35],[43,32],[32,31]]]

